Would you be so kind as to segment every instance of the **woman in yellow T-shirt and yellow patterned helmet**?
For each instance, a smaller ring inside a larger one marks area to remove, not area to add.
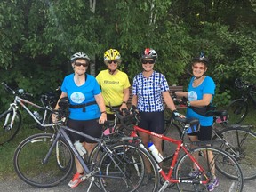
[[[104,63],[108,69],[100,71],[96,76],[100,84],[102,96],[107,109],[108,120],[113,120],[115,116],[110,111],[112,108],[127,108],[129,99],[129,87],[131,86],[126,73],[120,71],[121,55],[116,49],[108,49],[104,53]]]

